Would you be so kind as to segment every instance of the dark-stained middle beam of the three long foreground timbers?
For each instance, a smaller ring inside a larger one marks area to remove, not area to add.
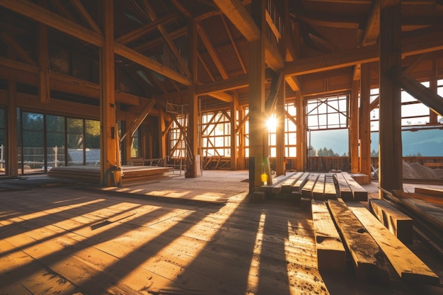
[[[387,284],[389,264],[374,238],[344,202],[328,199],[328,207],[350,252],[357,279]]]

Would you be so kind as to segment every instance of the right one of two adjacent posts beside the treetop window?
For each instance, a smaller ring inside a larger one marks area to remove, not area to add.
[[[369,64],[362,64],[360,79],[360,173],[371,182],[371,74]]]

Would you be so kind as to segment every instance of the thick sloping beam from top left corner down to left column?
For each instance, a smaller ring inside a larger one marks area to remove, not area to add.
[[[98,47],[103,46],[103,37],[101,34],[84,28],[82,25],[69,21],[66,18],[49,11],[42,6],[28,0],[0,0],[0,6],[4,6],[11,11],[26,16],[43,23],[51,28],[67,33],[84,42],[91,43]]]

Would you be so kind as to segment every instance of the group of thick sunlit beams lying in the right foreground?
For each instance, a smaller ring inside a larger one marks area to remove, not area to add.
[[[360,202],[340,198],[312,200],[318,270],[345,271],[349,254],[357,279],[364,282],[388,284],[393,269],[408,284],[439,284],[437,274],[400,240],[396,229],[386,226],[386,222],[393,223],[392,227],[398,224],[385,211],[393,213],[393,217],[401,216],[401,212],[384,199],[376,199],[374,204],[370,199],[369,204],[378,205],[378,209],[372,209],[375,215]],[[412,243],[412,239],[408,242]]]

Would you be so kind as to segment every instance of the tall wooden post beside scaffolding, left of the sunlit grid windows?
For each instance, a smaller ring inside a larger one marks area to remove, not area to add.
[[[189,120],[187,127],[188,154],[186,157],[185,177],[195,178],[200,176],[200,156],[198,151],[198,97],[195,93],[197,86],[197,23],[190,19],[188,24],[188,67],[192,76],[192,83],[188,86]]]

